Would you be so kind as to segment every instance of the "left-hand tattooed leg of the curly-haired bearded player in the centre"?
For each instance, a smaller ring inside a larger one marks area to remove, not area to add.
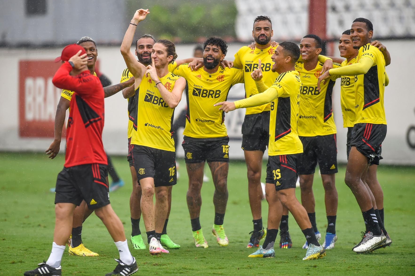
[[[203,163],[186,163],[187,174],[189,176],[189,189],[187,191],[187,207],[189,208],[190,219],[198,218],[200,215],[200,206],[202,206],[202,197],[200,190],[203,183]]]

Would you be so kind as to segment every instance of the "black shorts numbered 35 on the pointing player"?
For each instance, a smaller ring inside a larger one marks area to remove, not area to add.
[[[273,155],[266,164],[266,183],[273,183],[276,191],[295,188],[298,154]]]

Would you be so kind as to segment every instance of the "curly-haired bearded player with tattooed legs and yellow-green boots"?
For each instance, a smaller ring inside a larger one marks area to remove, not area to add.
[[[215,219],[212,233],[220,246],[229,244],[223,228],[228,190],[229,137],[224,124],[225,113],[213,104],[227,98],[232,85],[244,81],[243,72],[237,68],[222,67],[227,53],[223,39],[211,37],[203,44],[203,67],[192,71],[186,64],[178,66],[173,73],[184,77],[188,83],[186,127],[183,131],[183,150],[189,176],[187,206],[190,213],[193,239],[196,247],[207,248],[207,242],[200,226],[205,162],[212,172],[215,193]]]

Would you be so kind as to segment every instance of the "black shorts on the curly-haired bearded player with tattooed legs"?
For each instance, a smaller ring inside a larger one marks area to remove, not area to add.
[[[184,136],[183,150],[186,163],[229,163],[229,137],[192,138]]]

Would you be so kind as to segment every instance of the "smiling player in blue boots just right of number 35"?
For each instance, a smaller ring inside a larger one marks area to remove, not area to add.
[[[303,84],[300,95],[298,116],[298,136],[303,143],[304,152],[298,160],[301,203],[310,218],[311,225],[320,240],[315,220],[315,199],[312,191],[315,168],[318,162],[322,184],[325,190],[327,229],[323,247],[334,247],[336,236],[337,190],[334,184],[337,173],[336,126],[332,112],[332,92],[335,80],[330,80],[319,91],[317,78],[323,72],[323,63],[318,60],[322,50],[320,37],[308,34],[301,39],[300,52],[303,61],[295,64]],[[340,64],[333,63],[333,67]],[[303,248],[307,248],[305,242]]]

